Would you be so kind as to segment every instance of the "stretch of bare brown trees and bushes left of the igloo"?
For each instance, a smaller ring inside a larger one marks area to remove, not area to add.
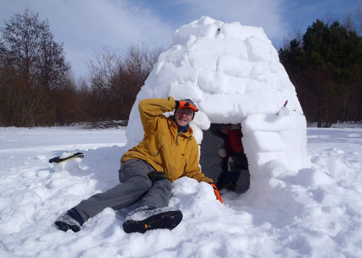
[[[136,95],[163,47],[130,43],[123,53],[104,46],[85,60],[77,83],[48,20],[28,8],[0,28],[0,126],[127,125]]]

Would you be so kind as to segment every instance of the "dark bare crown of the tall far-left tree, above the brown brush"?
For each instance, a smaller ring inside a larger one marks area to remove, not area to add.
[[[56,43],[48,20],[39,21],[38,14],[25,8],[14,14],[0,28],[0,55],[8,63],[46,88],[62,87],[70,72],[63,43]]]

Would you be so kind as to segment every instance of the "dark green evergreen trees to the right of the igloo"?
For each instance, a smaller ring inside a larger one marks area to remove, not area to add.
[[[362,2],[355,19],[342,24],[326,14],[303,35],[295,29],[279,50],[307,122],[330,127],[337,122],[362,122]]]

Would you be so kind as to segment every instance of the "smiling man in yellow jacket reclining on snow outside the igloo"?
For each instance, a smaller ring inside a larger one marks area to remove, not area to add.
[[[121,209],[136,202],[139,202],[137,208],[123,223],[125,232],[171,230],[182,220],[180,210],[168,207],[171,182],[185,176],[210,183],[216,199],[222,202],[219,190],[201,173],[199,166],[198,145],[189,126],[198,111],[195,104],[189,99],[175,101],[169,97],[142,100],[138,108],[144,137],[122,156],[119,185],[83,200],[60,216],[55,224],[61,230],[77,232],[84,221],[104,208]],[[163,115],[172,110],[173,116]]]

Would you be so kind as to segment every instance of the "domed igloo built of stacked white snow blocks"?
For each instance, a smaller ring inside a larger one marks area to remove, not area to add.
[[[169,96],[190,98],[197,105],[191,127],[201,147],[201,170],[214,180],[219,139],[206,139],[210,123],[241,123],[251,189],[258,177],[278,176],[263,169],[270,162],[283,164],[284,174],[310,166],[306,119],[262,28],[201,17],[177,29],[137,95],[126,130],[127,147],[143,139],[139,101]]]

